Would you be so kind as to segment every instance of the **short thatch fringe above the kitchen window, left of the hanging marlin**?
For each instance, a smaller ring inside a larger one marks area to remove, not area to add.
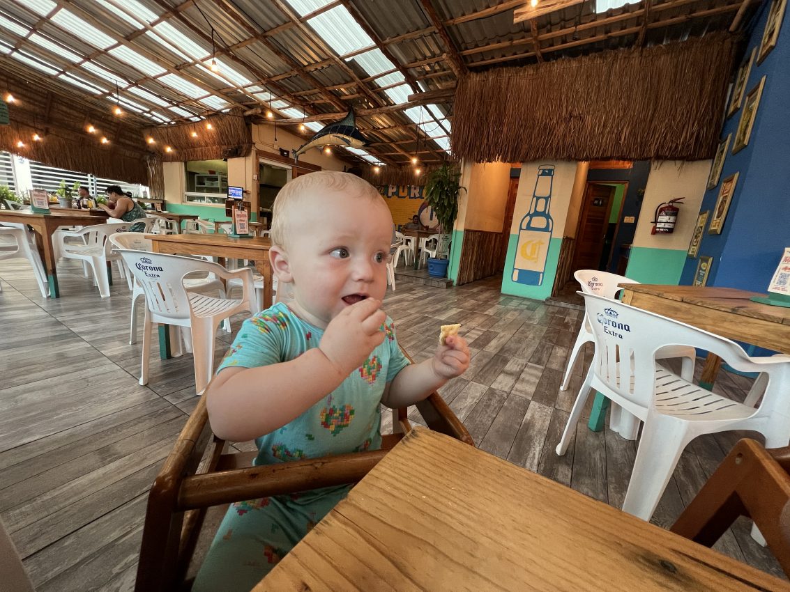
[[[163,162],[236,158],[252,150],[252,131],[240,109],[201,122],[149,127],[143,133],[146,141],[154,139],[149,150],[160,155]],[[166,152],[167,146],[171,152]]]

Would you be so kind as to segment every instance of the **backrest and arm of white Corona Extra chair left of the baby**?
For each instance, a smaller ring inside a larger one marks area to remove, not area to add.
[[[221,272],[220,264],[180,255],[119,249],[126,267],[145,291],[145,302],[157,319],[189,320],[190,304],[182,279],[194,272]],[[161,321],[159,321],[161,322]]]

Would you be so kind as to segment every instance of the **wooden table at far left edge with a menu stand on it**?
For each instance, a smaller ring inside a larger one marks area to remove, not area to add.
[[[0,223],[13,222],[28,224],[33,230],[36,230],[36,242],[39,245],[39,250],[43,254],[44,267],[47,268],[47,280],[49,282],[51,298],[60,298],[58,272],[55,269],[55,250],[52,246],[52,234],[58,227],[62,226],[92,226],[94,224],[103,224],[107,222],[107,214],[104,213],[98,214],[96,212],[87,212],[77,209],[69,210],[68,208],[58,209],[62,209],[62,212],[57,212],[55,209],[53,209],[53,213],[51,214],[34,214],[32,212],[21,212],[20,210],[0,211]]]

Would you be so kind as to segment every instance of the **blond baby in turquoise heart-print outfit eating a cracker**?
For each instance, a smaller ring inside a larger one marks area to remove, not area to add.
[[[398,347],[381,309],[392,228],[352,174],[306,174],[277,195],[269,257],[292,300],[244,322],[205,395],[218,437],[256,438],[256,465],[380,448],[380,403],[412,405],[468,368],[459,335],[415,365]],[[348,489],[232,504],[194,592],[250,590]]]

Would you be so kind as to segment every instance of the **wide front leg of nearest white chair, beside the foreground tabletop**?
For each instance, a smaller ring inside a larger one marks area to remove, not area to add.
[[[643,520],[650,519],[690,440],[684,422],[648,418],[628,481],[623,511]]]

